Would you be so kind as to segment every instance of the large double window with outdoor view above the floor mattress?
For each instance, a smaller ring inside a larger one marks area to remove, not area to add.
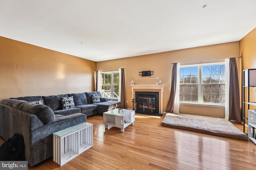
[[[180,66],[180,102],[225,103],[225,64]]]

